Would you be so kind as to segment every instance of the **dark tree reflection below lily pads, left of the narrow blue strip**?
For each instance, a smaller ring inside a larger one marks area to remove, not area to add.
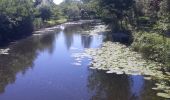
[[[135,100],[135,96],[130,94],[130,81],[127,75],[119,76],[93,70],[90,72],[88,82],[91,100]]]

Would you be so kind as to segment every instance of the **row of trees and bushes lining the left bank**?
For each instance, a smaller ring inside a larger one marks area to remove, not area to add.
[[[0,0],[0,43],[29,35],[62,16],[51,0]]]

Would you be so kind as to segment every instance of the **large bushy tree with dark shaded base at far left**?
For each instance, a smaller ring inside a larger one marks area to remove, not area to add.
[[[32,31],[32,6],[31,0],[0,0],[0,40]]]

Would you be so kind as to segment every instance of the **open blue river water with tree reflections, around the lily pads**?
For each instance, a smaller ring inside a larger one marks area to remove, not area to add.
[[[143,76],[106,74],[74,65],[73,53],[98,48],[105,35],[84,35],[94,25],[31,36],[0,55],[0,100],[161,100]]]

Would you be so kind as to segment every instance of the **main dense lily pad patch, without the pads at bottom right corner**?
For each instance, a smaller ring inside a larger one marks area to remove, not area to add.
[[[159,71],[161,64],[146,61],[140,54],[119,43],[106,42],[101,48],[87,49],[86,53],[92,56],[93,67],[105,68],[107,73],[164,77]]]

